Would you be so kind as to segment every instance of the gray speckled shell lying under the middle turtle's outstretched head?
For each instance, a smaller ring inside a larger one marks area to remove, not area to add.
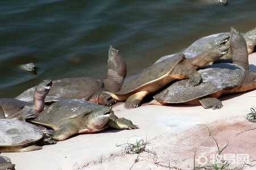
[[[188,79],[179,80],[154,95],[154,99],[162,103],[184,103],[238,86],[246,75],[245,69],[232,63],[210,65],[198,72],[203,78],[198,86],[191,86]]]

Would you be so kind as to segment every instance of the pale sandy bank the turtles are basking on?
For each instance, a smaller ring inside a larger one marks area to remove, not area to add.
[[[256,56],[250,57],[256,65]],[[256,72],[256,67],[251,70]],[[232,161],[230,168],[256,169],[256,124],[246,120],[256,107],[256,91],[220,98],[219,110],[189,105],[147,105],[135,109],[114,105],[118,117],[139,125],[136,130],[108,129],[99,133],[75,135],[43,150],[24,153],[2,153],[16,169],[193,169],[219,160]],[[212,136],[209,136],[209,130]],[[137,136],[137,137],[136,137]],[[143,139],[145,151],[126,154],[127,143]],[[218,147],[228,146],[216,159]],[[126,145],[125,145],[126,144]],[[117,146],[121,145],[121,146]],[[196,153],[196,154],[195,154]],[[194,158],[195,155],[195,158]],[[208,163],[205,162],[208,160]],[[169,168],[170,167],[170,168]]]

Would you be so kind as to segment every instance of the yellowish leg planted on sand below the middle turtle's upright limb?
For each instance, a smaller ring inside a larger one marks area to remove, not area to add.
[[[126,99],[125,108],[137,108],[141,106],[141,101],[147,96],[149,93],[148,91],[139,91]]]

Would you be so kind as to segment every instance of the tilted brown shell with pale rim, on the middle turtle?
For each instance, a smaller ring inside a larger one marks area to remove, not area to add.
[[[161,81],[162,78],[174,69],[174,67],[183,61],[184,54],[175,54],[171,58],[155,63],[154,65],[144,69],[138,74],[131,75],[125,79],[120,91],[115,94],[129,94],[137,92],[140,89],[150,86],[151,83]]]

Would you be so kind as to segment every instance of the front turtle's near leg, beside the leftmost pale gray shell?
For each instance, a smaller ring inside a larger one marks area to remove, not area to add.
[[[65,139],[71,137],[73,134],[79,132],[79,129],[72,124],[65,124],[61,126],[59,130],[54,130],[52,133],[52,139],[55,141],[64,141]]]

